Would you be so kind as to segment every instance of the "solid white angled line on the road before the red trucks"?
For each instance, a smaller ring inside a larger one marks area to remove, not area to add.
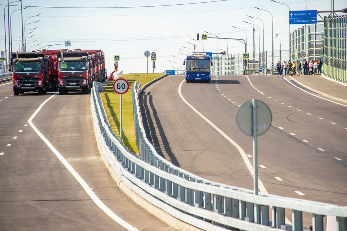
[[[48,100],[52,99],[54,96],[56,96],[58,93],[52,95],[48,99],[46,99],[39,108],[36,109],[34,114],[28,119],[28,123],[33,128],[33,130],[36,132],[37,135],[40,136],[40,138],[43,140],[43,142],[46,143],[46,145],[52,150],[52,152],[57,156],[57,158],[61,161],[61,163],[67,168],[67,170],[75,177],[75,179],[78,181],[78,183],[83,187],[85,192],[90,196],[90,198],[94,201],[96,205],[101,208],[104,213],[106,213],[111,219],[116,221],[118,224],[126,228],[127,230],[134,230],[138,231],[134,226],[128,224],[126,221],[121,219],[119,216],[117,216],[112,210],[110,210],[102,201],[96,196],[96,194],[93,192],[93,190],[88,186],[88,184],[82,179],[82,177],[76,172],[76,170],[67,162],[67,160],[57,151],[56,148],[44,137],[44,135],[36,128],[36,126],[33,124],[32,120],[33,118],[39,113],[43,105],[48,102]]]

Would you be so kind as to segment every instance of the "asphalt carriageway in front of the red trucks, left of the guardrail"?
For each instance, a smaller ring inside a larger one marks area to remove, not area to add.
[[[28,124],[55,93],[0,84],[0,230],[127,230],[101,210]],[[138,230],[173,230],[117,187],[96,146],[90,95],[55,95],[33,124],[113,213]]]

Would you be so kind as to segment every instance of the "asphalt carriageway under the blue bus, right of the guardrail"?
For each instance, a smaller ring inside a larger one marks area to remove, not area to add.
[[[147,137],[164,158],[185,170],[253,189],[239,151],[179,96],[183,80],[168,76],[145,89]],[[252,137],[239,130],[236,112],[247,100],[262,100],[273,116],[269,131],[258,137],[263,192],[347,206],[347,107],[309,95],[277,76],[249,76],[249,81],[243,75],[218,76],[210,84],[184,81],[181,94],[239,144],[252,164]]]

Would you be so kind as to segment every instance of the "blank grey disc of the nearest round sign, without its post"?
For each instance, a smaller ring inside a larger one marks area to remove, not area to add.
[[[257,136],[260,136],[269,130],[272,122],[272,115],[268,105],[257,99],[255,99],[255,101],[257,105]],[[243,133],[249,136],[253,136],[252,110],[252,100],[248,100],[237,109],[236,113],[237,126]]]

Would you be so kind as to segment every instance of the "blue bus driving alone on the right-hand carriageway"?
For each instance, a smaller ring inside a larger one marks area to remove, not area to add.
[[[212,62],[206,53],[194,53],[188,55],[183,62],[186,65],[186,82],[211,80]]]

